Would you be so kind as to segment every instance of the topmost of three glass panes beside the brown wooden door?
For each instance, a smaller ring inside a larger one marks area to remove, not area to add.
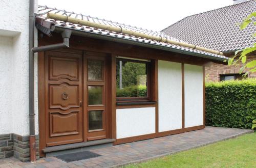
[[[102,80],[102,65],[99,60],[88,60],[88,80]]]

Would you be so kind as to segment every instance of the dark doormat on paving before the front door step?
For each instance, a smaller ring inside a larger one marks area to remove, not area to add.
[[[82,160],[82,159],[90,159],[93,157],[101,156],[97,153],[93,153],[90,151],[84,151],[84,152],[76,152],[76,153],[69,153],[69,154],[63,154],[55,156],[58,159],[61,159],[66,162],[76,161],[76,160]]]

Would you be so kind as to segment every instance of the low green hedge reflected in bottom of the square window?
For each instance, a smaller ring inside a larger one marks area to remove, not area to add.
[[[125,87],[123,89],[116,89],[116,96],[117,97],[146,97],[147,90],[146,86],[139,85],[139,86],[130,86]]]

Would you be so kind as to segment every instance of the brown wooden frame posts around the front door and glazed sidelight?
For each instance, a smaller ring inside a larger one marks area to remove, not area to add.
[[[65,53],[79,53],[82,54],[82,60],[84,59],[84,54],[83,52],[87,51],[82,51],[82,50],[77,50],[77,49],[60,49],[60,50],[53,50],[57,52],[65,52]],[[96,53],[96,52],[87,52],[90,54]],[[42,151],[42,149],[46,148],[46,92],[45,92],[45,54],[46,52],[38,52],[38,59],[37,59],[37,65],[38,65],[38,130],[39,130],[39,156],[40,157],[45,157],[45,153]],[[113,57],[110,54],[106,53],[97,53],[98,55],[104,55],[106,57],[106,74],[108,74],[108,77],[106,77],[106,86],[108,89],[106,89],[106,95],[109,95],[109,99],[105,100],[106,104],[106,110],[109,111],[108,115],[106,115],[106,138],[115,138],[115,133],[113,132],[116,130],[116,127],[113,127],[115,125],[115,103],[116,103],[116,98],[115,95],[112,93],[115,92],[115,87],[112,87],[111,83],[115,82],[115,74],[112,74],[113,71],[115,71],[115,67],[113,67]],[[115,61],[115,60],[114,60]],[[115,64],[114,64],[115,66]],[[82,65],[82,71],[83,71],[83,65]],[[82,72],[83,73],[83,72]],[[82,80],[83,79],[83,74],[82,74]],[[113,81],[114,80],[114,81]],[[84,83],[82,81],[82,83]],[[82,92],[84,93],[84,86],[82,84]],[[84,97],[84,95],[82,95]],[[84,100],[84,98],[83,98]],[[84,101],[83,101],[84,102]],[[84,104],[83,104],[84,107]],[[84,116],[83,121],[84,121]],[[114,121],[114,122],[113,122]],[[83,123],[84,124],[84,123]],[[84,129],[84,126],[83,126]],[[113,131],[112,131],[113,130]],[[84,138],[84,130],[83,132],[83,138]],[[85,139],[83,139],[83,142]]]

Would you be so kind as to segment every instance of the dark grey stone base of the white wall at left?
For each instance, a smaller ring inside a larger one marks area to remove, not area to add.
[[[21,161],[30,160],[29,135],[15,133],[0,135],[0,159],[14,156]],[[36,135],[36,158],[39,159],[39,137]]]

